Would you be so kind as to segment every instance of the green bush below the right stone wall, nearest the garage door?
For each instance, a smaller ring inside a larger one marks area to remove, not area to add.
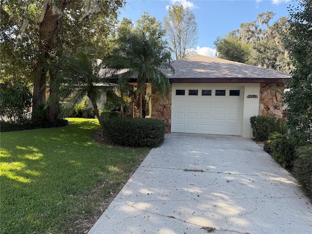
[[[285,134],[288,131],[286,121],[282,118],[253,116],[250,118],[250,123],[256,141],[265,141],[274,132]]]

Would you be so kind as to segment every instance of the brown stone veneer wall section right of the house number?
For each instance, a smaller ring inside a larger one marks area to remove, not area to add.
[[[259,116],[283,117],[284,84],[261,83]]]

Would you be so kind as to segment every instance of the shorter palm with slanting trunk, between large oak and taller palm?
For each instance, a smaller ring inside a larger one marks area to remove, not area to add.
[[[69,97],[74,103],[80,102],[84,97],[88,97],[92,103],[98,121],[103,126],[99,116],[97,101],[108,88],[106,79],[107,69],[102,68],[102,60],[90,55],[86,48],[80,50],[76,58],[63,55],[61,69],[58,77],[51,85],[60,85],[55,96]]]

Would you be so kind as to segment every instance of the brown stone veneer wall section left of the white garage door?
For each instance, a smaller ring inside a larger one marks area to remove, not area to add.
[[[166,123],[166,133],[171,133],[171,92],[169,98],[159,98],[156,90],[152,91],[152,118]]]

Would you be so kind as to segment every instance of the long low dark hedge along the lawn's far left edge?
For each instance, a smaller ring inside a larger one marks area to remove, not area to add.
[[[0,132],[13,132],[13,131],[22,131],[30,129],[39,129],[39,128],[57,128],[64,127],[68,125],[68,120],[61,119],[57,122],[49,121],[36,121],[36,122],[27,122],[27,123],[0,123]]]

